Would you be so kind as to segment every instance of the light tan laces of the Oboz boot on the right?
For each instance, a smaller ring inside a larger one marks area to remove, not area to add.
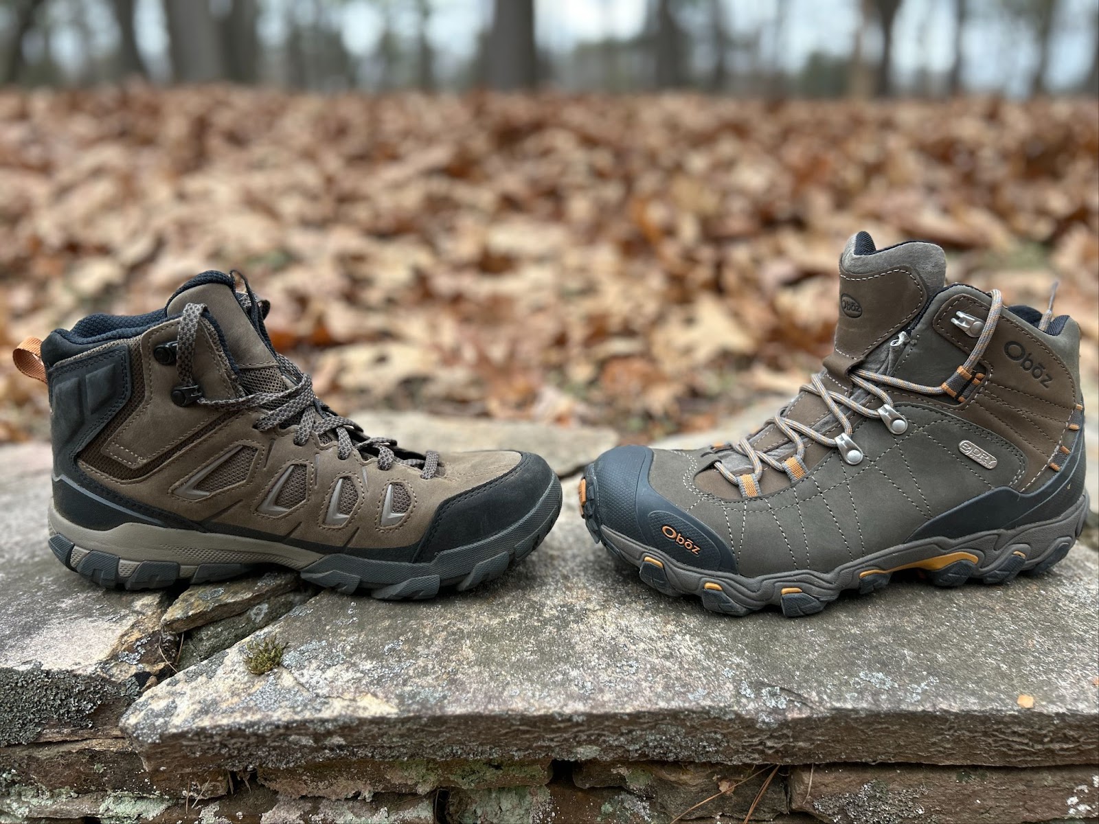
[[[803,478],[808,474],[809,470],[804,464],[806,442],[802,439],[802,435],[815,441],[822,446],[839,449],[840,456],[844,459],[844,461],[852,466],[861,463],[863,460],[863,452],[852,437],[854,427],[852,426],[847,414],[843,409],[841,409],[841,407],[846,407],[851,412],[857,412],[865,417],[879,419],[886,424],[886,426],[889,427],[890,432],[895,435],[900,435],[908,430],[908,421],[904,420],[904,417],[897,412],[896,409],[893,409],[892,399],[889,397],[889,393],[881,388],[881,386],[904,389],[909,392],[917,392],[920,394],[948,394],[952,398],[963,398],[964,392],[969,387],[978,386],[985,378],[984,374],[977,371],[977,366],[980,358],[985,355],[985,350],[988,348],[989,342],[992,339],[992,334],[996,332],[996,324],[1000,320],[1000,311],[1003,308],[1003,299],[998,290],[993,289],[991,291],[991,298],[992,302],[988,312],[988,318],[984,322],[980,335],[977,338],[976,345],[973,347],[973,352],[969,353],[969,357],[966,358],[965,364],[959,366],[950,378],[937,387],[912,383],[908,380],[895,378],[891,375],[884,375],[881,372],[870,371],[867,369],[854,369],[848,376],[851,378],[851,382],[858,389],[867,392],[870,397],[877,398],[880,401],[877,407],[867,407],[847,394],[835,392],[825,387],[823,380],[821,379],[822,374],[814,375],[809,383],[801,387],[801,390],[819,396],[821,400],[824,401],[824,405],[828,407],[829,412],[832,413],[832,416],[840,424],[843,432],[837,434],[835,437],[828,437],[826,435],[822,435],[811,426],[807,426],[799,421],[791,420],[781,414],[776,414],[774,417],[766,421],[765,425],[767,423],[773,423],[778,431],[785,435],[786,439],[768,452],[778,452],[786,444],[792,443],[795,447],[792,455],[780,460],[773,455],[759,452],[752,446],[747,437],[744,437],[736,444],[724,444],[717,447],[717,452],[720,453],[731,450],[739,455],[743,455],[752,463],[752,471],[737,474],[724,463],[724,459],[714,464],[714,468],[721,472],[726,480],[731,483],[735,483],[740,488],[742,497],[755,498],[759,494],[759,478],[763,475],[765,465],[780,472],[786,472],[791,482]],[[869,400],[869,398],[866,400]]]

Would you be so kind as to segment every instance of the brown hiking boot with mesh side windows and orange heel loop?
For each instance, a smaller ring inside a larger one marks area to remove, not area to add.
[[[126,589],[280,564],[343,592],[430,598],[545,537],[560,485],[542,458],[366,436],[275,353],[266,307],[210,271],[165,309],[91,315],[16,350],[49,386],[63,564]]]

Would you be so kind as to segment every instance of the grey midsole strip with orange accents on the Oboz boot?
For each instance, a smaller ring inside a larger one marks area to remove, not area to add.
[[[777,588],[791,583],[803,588],[810,594],[829,594],[835,593],[837,589],[858,586],[863,575],[910,568],[934,569],[939,559],[952,563],[964,555],[974,559],[977,575],[998,568],[1017,552],[1025,555],[1026,567],[1032,567],[1048,553],[1064,532],[1065,525],[1075,523],[1083,516],[1087,505],[1088,497],[1085,493],[1067,512],[1050,521],[1009,530],[989,530],[961,538],[934,537],[914,541],[848,561],[830,571],[795,569],[756,578],[687,566],[655,547],[645,546],[607,526],[601,527],[601,533],[634,565],[641,566],[646,556],[652,557],[666,569],[676,570],[680,583],[689,583],[690,589],[701,592],[706,582],[713,581],[742,593],[747,600],[757,598],[769,600]]]

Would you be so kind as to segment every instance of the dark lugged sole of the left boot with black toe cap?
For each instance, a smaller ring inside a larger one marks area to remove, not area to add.
[[[560,482],[554,478],[539,502],[518,522],[474,544],[439,553],[430,563],[399,564],[345,554],[332,554],[297,569],[303,580],[338,592],[368,592],[387,601],[423,600],[444,590],[464,592],[502,576],[545,539],[560,514]],[[53,527],[63,524],[51,511],[49,549],[57,560],[107,589],[163,589],[177,582],[222,581],[258,569],[262,564],[199,563],[180,565],[166,560],[135,560],[140,550],[85,549]],[[64,527],[63,527],[64,528]],[[70,532],[75,532],[70,530]],[[238,549],[227,552],[231,557]],[[280,563],[265,556],[263,563]]]

